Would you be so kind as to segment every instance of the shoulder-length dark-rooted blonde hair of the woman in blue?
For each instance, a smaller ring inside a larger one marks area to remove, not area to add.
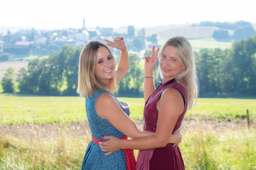
[[[113,93],[116,90],[116,72],[114,77],[110,80],[109,86],[101,82],[94,74],[97,53],[100,47],[106,47],[113,57],[108,46],[99,41],[88,42],[80,53],[78,87],[76,91],[80,97],[86,98],[87,95],[92,96],[96,90],[103,90],[109,93]]]

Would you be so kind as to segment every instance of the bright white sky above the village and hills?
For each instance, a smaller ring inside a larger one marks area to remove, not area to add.
[[[0,27],[45,29],[133,25],[138,28],[201,21],[256,23],[254,0],[3,0]],[[254,14],[253,14],[254,13]]]

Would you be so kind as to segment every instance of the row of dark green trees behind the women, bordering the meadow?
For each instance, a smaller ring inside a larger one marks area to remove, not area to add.
[[[15,73],[9,68],[2,79],[6,93],[74,96],[82,47],[64,45],[46,59],[32,59]],[[145,55],[151,51],[146,51]],[[256,36],[236,41],[231,48],[194,52],[200,96],[256,95]],[[130,68],[117,85],[117,96],[143,96],[143,59],[129,54]],[[116,59],[118,62],[118,57]],[[155,81],[155,83],[158,85]]]

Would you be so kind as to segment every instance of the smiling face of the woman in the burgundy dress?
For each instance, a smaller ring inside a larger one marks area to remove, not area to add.
[[[163,74],[163,82],[174,79],[179,75],[183,68],[177,58],[176,47],[167,45],[160,54],[160,69]]]

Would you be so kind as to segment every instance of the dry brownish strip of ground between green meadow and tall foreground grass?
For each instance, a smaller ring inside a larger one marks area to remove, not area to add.
[[[136,120],[136,126],[143,130],[144,120]],[[256,128],[256,120],[251,120],[250,125],[252,128]],[[220,120],[206,120],[206,119],[184,119],[182,124],[182,133],[185,134],[188,130],[202,130],[221,133],[227,130],[239,130],[247,127],[247,121],[243,120],[237,122],[226,122]],[[27,125],[9,125],[0,126],[1,135],[15,136],[20,139],[32,140],[32,139],[44,139],[54,140],[59,135],[64,134],[68,137],[91,137],[90,127],[88,122],[77,123],[54,123],[46,125],[27,124]]]

